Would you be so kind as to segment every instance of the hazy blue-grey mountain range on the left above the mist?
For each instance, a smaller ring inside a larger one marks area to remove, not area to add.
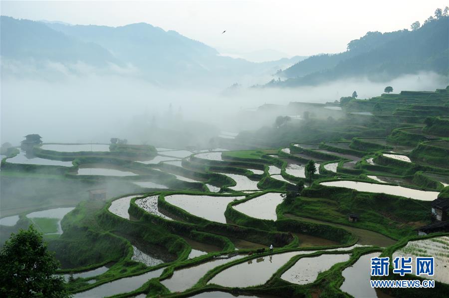
[[[75,73],[81,63],[89,71],[116,71],[166,86],[219,82],[226,87],[241,77],[266,77],[301,59],[253,63],[225,57],[202,42],[146,23],[68,25],[7,16],[1,16],[1,44],[6,75],[17,71],[17,62],[38,71],[47,62],[59,63]]]

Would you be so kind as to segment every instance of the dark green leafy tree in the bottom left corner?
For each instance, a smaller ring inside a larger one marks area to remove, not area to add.
[[[0,252],[0,297],[70,297],[57,268],[32,225],[11,234]]]

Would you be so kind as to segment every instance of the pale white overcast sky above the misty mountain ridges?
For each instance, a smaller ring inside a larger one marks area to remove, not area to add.
[[[447,0],[1,1],[2,15],[71,24],[146,22],[221,52],[335,53],[367,31],[421,23]],[[225,34],[222,31],[226,30]]]

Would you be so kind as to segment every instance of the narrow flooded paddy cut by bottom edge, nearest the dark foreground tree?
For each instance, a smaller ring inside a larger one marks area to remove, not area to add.
[[[148,282],[148,280],[152,278],[159,277],[161,273],[164,271],[164,268],[150,271],[144,273],[142,275],[123,278],[120,280],[116,280],[107,284],[103,284],[86,292],[81,292],[74,294],[74,298],[97,298],[97,297],[106,297],[113,296],[121,293],[132,292],[134,290],[142,287],[143,284]]]

